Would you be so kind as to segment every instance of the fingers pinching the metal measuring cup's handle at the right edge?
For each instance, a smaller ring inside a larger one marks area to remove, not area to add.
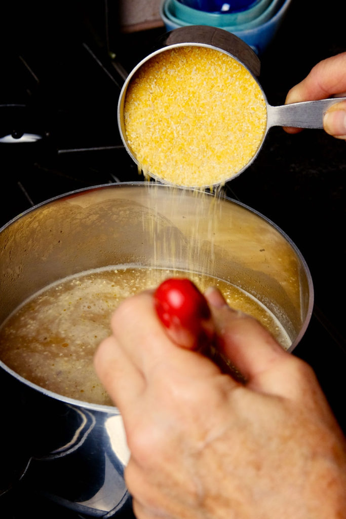
[[[308,76],[291,88],[285,104],[346,96],[346,52],[317,63]],[[324,129],[337,139],[346,140],[346,98],[329,108],[323,120]],[[285,128],[297,133],[299,128]]]

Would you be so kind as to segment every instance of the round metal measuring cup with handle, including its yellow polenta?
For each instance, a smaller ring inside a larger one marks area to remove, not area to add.
[[[129,74],[118,103],[122,141],[144,174],[185,187],[223,185],[253,162],[271,127],[323,128],[338,99],[271,106],[259,69],[252,49],[222,29],[168,33]]]

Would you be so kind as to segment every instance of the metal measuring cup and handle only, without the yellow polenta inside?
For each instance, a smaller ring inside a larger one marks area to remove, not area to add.
[[[137,160],[136,154],[127,139],[126,133],[126,125],[124,120],[124,106],[126,102],[126,94],[128,87],[131,83],[132,78],[139,71],[140,67],[146,63],[148,60],[153,58],[156,54],[160,52],[167,51],[168,49],[172,49],[174,47],[182,47],[182,46],[201,46],[201,47],[209,47],[212,49],[219,50],[228,54],[232,58],[236,59],[241,65],[247,69],[247,71],[252,75],[254,80],[256,81],[260,92],[262,94],[263,100],[266,104],[266,112],[267,112],[267,120],[265,129],[261,135],[260,142],[258,143],[257,149],[255,153],[251,156],[250,160],[248,160],[238,171],[233,172],[230,175],[226,175],[222,180],[218,180],[217,182],[213,182],[211,184],[199,184],[196,181],[193,185],[190,183],[184,187],[198,187],[198,188],[210,188],[212,186],[223,185],[234,177],[238,176],[242,173],[251,163],[255,160],[266,135],[270,128],[273,126],[285,126],[285,127],[296,127],[296,128],[323,128],[323,116],[328,108],[341,101],[345,98],[333,98],[333,99],[323,99],[319,101],[306,101],[300,103],[292,103],[281,106],[271,106],[266,98],[264,91],[262,90],[258,76],[260,73],[260,61],[257,54],[248,46],[243,40],[231,34],[223,29],[210,27],[206,25],[190,25],[185,26],[179,29],[175,29],[167,34],[165,34],[160,42],[158,48],[145,57],[139,64],[137,64],[131,73],[126,78],[122,90],[120,92],[120,97],[118,101],[118,127],[120,131],[120,136],[124,147],[127,149],[127,152],[130,154],[132,159],[137,163],[137,165],[141,168],[141,163]],[[225,107],[226,110],[227,106]],[[246,114],[244,114],[246,117]],[[198,139],[198,134],[196,135],[196,139]],[[167,143],[169,146],[172,143]],[[151,171],[144,171],[147,176],[153,177],[153,179],[165,183],[172,184],[173,182],[167,181],[164,179],[164,175],[157,175]],[[175,185],[182,186],[183,184],[179,182],[174,182]]]

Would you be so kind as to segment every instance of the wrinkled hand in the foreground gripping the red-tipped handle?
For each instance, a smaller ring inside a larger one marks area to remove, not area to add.
[[[311,368],[209,291],[241,384],[176,346],[153,294],[123,302],[95,368],[123,417],[139,519],[344,519],[345,440]]]

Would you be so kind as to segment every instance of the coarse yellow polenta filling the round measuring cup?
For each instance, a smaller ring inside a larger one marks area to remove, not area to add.
[[[145,173],[179,186],[212,186],[237,174],[257,152],[266,101],[250,72],[228,54],[175,47],[136,71],[124,124]]]

